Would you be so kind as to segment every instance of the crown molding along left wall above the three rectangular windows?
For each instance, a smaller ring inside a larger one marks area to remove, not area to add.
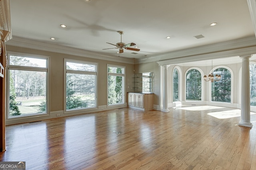
[[[10,41],[6,42],[6,45],[12,45],[16,47],[24,47],[24,48],[36,49],[36,50],[42,50],[42,51],[49,51],[54,53],[76,55],[76,56],[88,57],[93,59],[101,59],[106,61],[115,61],[120,63],[134,64],[134,59],[116,57],[116,56],[105,55],[101,53],[94,53],[91,51],[85,51],[82,49],[75,49],[75,48],[64,47],[60,45],[42,43],[42,42],[33,41],[30,39],[23,39],[15,36],[13,36]]]

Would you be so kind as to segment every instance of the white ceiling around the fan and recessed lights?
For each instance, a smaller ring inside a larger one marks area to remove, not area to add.
[[[140,51],[120,57],[136,59],[254,36],[247,0],[10,0],[10,12],[13,37],[118,56],[102,49],[121,30]]]

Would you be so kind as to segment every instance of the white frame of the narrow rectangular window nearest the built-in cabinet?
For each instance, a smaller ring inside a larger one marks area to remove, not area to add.
[[[108,72],[108,67],[116,67],[116,68],[122,68],[124,69],[124,73],[112,73],[112,72]],[[114,107],[114,106],[124,106],[125,105],[125,72],[126,72],[126,67],[125,66],[120,66],[120,65],[114,65],[114,64],[107,64],[107,87],[106,87],[106,91],[107,91],[107,107]],[[122,76],[122,104],[108,104],[108,76]]]

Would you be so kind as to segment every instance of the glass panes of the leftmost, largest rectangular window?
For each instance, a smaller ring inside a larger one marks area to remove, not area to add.
[[[8,54],[8,118],[48,112],[49,58]]]

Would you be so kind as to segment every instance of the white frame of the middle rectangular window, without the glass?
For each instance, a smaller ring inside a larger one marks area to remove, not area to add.
[[[90,65],[95,65],[95,71],[82,71],[82,70],[70,70],[66,68],[66,63],[80,63],[80,64],[90,64]],[[73,74],[87,74],[87,75],[95,75],[95,107],[83,107],[83,108],[76,108],[76,109],[66,109],[66,75],[67,73],[73,73]],[[64,114],[66,113],[75,113],[78,111],[85,111],[85,110],[92,110],[92,109],[97,109],[98,108],[98,63],[94,62],[89,62],[89,61],[82,61],[82,60],[74,60],[74,59],[64,59],[64,104],[63,104],[63,109],[64,109]]]

